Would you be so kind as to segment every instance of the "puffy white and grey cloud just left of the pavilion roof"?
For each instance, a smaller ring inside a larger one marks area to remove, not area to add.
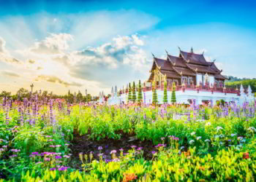
[[[117,36],[111,42],[99,47],[87,47],[85,50],[76,51],[79,64],[102,65],[107,68],[118,68],[129,64],[135,69],[140,69],[146,63],[146,52],[139,46],[144,42],[138,35]]]

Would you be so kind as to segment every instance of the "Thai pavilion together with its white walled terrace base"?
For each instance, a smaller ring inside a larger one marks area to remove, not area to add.
[[[191,103],[193,99],[198,104],[208,103],[210,100],[216,103],[217,100],[222,99],[242,105],[244,100],[254,100],[250,87],[246,92],[242,85],[240,90],[226,88],[225,79],[227,78],[222,75],[222,70],[219,70],[214,62],[215,60],[206,61],[203,54],[195,54],[192,48],[190,52],[184,52],[179,48],[178,57],[169,55],[168,52],[166,59],[154,57],[149,79],[143,84],[143,103],[152,103],[152,85],[154,85],[152,82],[156,84],[154,88],[157,92],[158,103],[162,103],[165,80],[167,81],[168,103],[171,101],[173,82],[176,83],[177,103]],[[117,95],[117,89],[115,94],[113,90],[111,93],[108,104],[128,102],[128,87],[125,91],[123,88],[119,95]]]

